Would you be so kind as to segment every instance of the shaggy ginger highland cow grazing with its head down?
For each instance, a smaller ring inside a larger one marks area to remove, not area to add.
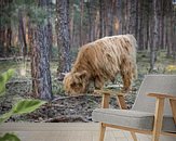
[[[64,78],[67,93],[84,93],[91,81],[97,89],[105,81],[113,81],[118,74],[123,79],[123,90],[128,90],[136,76],[136,39],[133,35],[105,37],[84,44],[77,60]]]

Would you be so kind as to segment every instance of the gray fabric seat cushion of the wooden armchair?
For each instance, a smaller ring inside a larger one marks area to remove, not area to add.
[[[96,108],[93,111],[94,121],[130,127],[140,130],[152,130],[154,114],[128,110]],[[176,132],[173,117],[164,117],[163,131]]]

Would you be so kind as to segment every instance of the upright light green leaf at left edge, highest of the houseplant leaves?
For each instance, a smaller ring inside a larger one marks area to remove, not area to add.
[[[14,73],[14,69],[9,69],[8,72],[0,75],[0,97],[4,94],[5,84],[12,78]]]

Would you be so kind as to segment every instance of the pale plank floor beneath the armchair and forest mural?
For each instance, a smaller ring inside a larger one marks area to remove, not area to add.
[[[95,123],[5,123],[0,134],[14,132],[22,141],[98,141],[98,129]],[[128,132],[107,128],[105,141],[133,140]]]

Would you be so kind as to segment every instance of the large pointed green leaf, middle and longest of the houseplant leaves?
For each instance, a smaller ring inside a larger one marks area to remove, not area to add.
[[[46,102],[41,100],[31,100],[31,99],[21,100],[12,107],[12,110],[9,113],[5,113],[0,117],[0,123],[8,120],[13,115],[31,113],[37,108],[39,108],[44,103]]]

